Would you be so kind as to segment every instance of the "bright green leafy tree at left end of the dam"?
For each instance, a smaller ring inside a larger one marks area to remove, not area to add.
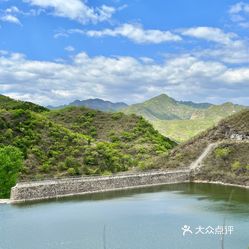
[[[9,198],[23,167],[23,155],[13,146],[0,148],[0,198]]]

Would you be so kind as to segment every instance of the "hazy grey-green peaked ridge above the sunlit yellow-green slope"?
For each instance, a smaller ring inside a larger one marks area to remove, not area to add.
[[[127,114],[139,114],[147,120],[189,120],[203,118],[223,118],[246,108],[230,102],[213,105],[177,101],[166,94],[161,94],[143,103],[134,104],[122,109]]]

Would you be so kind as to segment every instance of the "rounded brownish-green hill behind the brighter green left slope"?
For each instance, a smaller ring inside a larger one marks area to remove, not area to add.
[[[93,142],[114,144],[120,151],[135,159],[133,166],[152,166],[151,157],[157,157],[176,145],[154,130],[142,117],[135,115],[68,107],[51,111],[46,116],[73,132],[88,134]]]

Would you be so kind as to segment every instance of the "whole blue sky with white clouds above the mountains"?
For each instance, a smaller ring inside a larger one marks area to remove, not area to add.
[[[0,0],[0,94],[249,105],[249,1]]]

